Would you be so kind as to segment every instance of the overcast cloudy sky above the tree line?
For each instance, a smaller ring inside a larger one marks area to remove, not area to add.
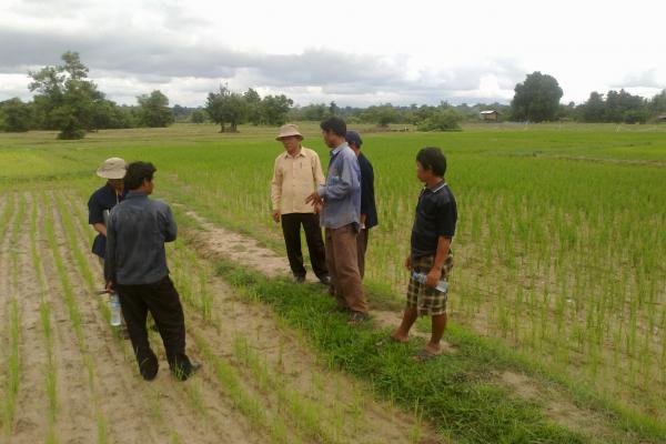
[[[666,1],[0,0],[0,100],[78,51],[119,103],[201,105],[221,82],[297,104],[508,102],[533,71],[564,102],[666,88]]]

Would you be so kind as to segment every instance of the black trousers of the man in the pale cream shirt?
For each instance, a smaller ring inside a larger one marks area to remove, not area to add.
[[[284,243],[286,244],[286,256],[294,276],[305,276],[303,253],[301,251],[301,225],[305,231],[312,271],[320,279],[327,276],[326,251],[322,239],[322,229],[319,224],[319,215],[314,213],[289,213],[282,214],[281,220]]]

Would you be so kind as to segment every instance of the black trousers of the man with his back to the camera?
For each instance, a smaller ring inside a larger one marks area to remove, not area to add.
[[[159,369],[158,357],[150,347],[145,330],[145,319],[150,311],[162,336],[171,372],[178,379],[186,380],[192,372],[192,364],[185,354],[185,317],[171,279],[165,276],[144,285],[119,284],[117,290],[141,376],[152,380]]]

